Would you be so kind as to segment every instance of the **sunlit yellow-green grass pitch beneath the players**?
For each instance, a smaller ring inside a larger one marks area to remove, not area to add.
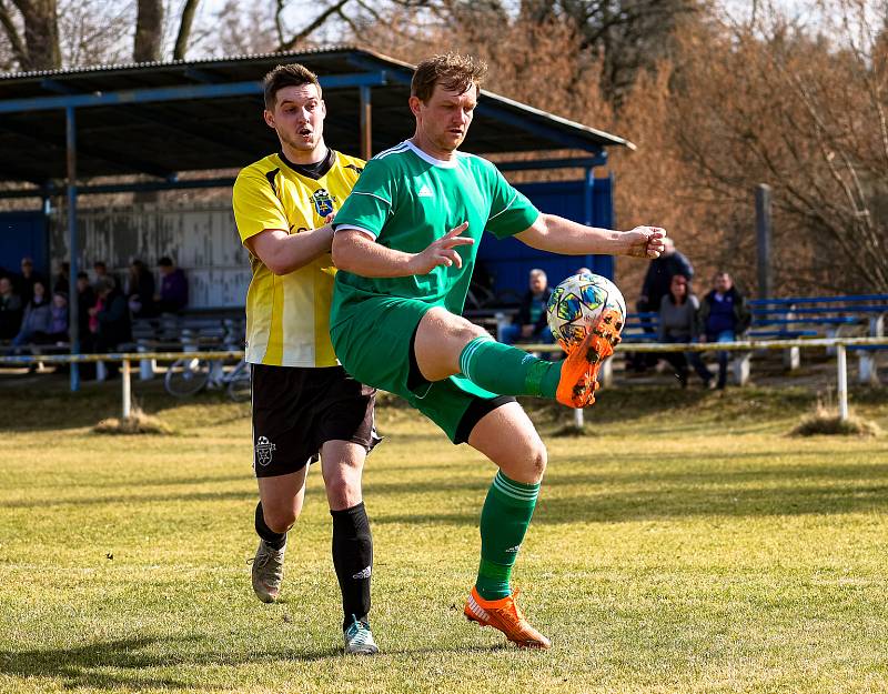
[[[547,653],[461,615],[493,467],[383,406],[362,660],[319,472],[262,605],[248,411],[140,384],[176,433],[93,434],[111,388],[0,390],[1,692],[888,692],[888,441],[787,436],[800,390],[605,392],[585,436],[535,412],[549,469],[515,580]],[[886,395],[854,406],[888,429]]]

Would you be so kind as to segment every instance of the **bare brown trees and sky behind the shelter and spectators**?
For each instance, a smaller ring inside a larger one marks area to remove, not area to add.
[[[755,293],[767,183],[776,293],[885,292],[887,19],[888,0],[0,0],[0,70],[472,52],[486,89],[637,145],[612,151],[618,227],[666,227],[698,290],[725,269]],[[634,298],[644,268],[618,271]]]

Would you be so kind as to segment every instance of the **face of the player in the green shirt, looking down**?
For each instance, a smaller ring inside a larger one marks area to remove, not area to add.
[[[478,102],[477,93],[475,84],[462,94],[435,84],[427,103],[411,97],[411,110],[416,117],[416,134],[422,142],[444,154],[458,148],[472,124]]]

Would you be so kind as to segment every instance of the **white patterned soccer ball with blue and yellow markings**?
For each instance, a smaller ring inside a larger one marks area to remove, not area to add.
[[[567,350],[585,339],[605,309],[615,309],[620,322],[626,322],[626,300],[616,284],[599,274],[575,274],[553,290],[546,319],[558,344]]]

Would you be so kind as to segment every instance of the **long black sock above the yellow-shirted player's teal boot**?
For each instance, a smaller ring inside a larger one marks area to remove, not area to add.
[[[352,615],[367,624],[370,613],[370,575],[373,572],[373,537],[362,501],[333,516],[333,566],[342,591],[342,627],[347,628]]]

